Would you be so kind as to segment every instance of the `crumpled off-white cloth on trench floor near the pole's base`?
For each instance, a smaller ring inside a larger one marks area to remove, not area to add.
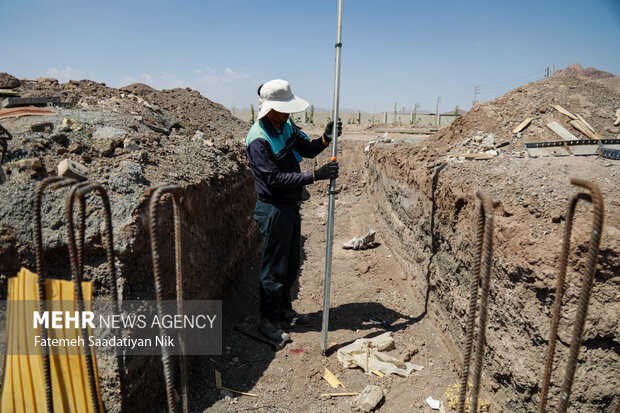
[[[393,346],[394,339],[389,331],[373,338],[358,338],[338,350],[338,361],[345,368],[361,367],[367,374],[377,370],[386,375],[398,374],[403,377],[408,377],[413,370],[420,371],[424,368],[398,360],[384,352]]]

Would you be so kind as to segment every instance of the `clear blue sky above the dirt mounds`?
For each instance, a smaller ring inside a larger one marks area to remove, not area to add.
[[[336,0],[0,0],[0,72],[185,87],[256,106],[273,78],[331,108]],[[344,0],[341,108],[469,109],[579,62],[620,75],[620,0]]]

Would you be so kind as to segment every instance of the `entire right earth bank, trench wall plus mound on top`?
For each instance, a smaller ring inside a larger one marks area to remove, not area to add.
[[[620,94],[600,81],[554,76],[475,105],[450,127],[419,144],[379,144],[370,152],[373,207],[385,222],[387,242],[428,297],[446,334],[462,349],[467,291],[473,266],[475,193],[495,197],[495,248],[484,371],[486,394],[504,411],[533,411],[538,403],[549,336],[571,177],[596,182],[605,199],[605,228],[571,406],[608,411],[620,385],[620,164],[598,157],[524,158],[523,142],[560,138],[556,121],[579,138],[561,105],[582,115],[604,137],[616,137],[613,114]],[[512,129],[533,118],[521,135]],[[501,142],[508,146],[494,147]],[[484,161],[462,161],[456,152],[495,151]],[[584,272],[592,215],[581,205],[573,226],[567,291],[553,376],[558,396]],[[581,363],[583,361],[583,364]],[[498,390],[499,389],[499,390]],[[497,393],[493,395],[494,393]],[[549,405],[548,405],[549,406]]]

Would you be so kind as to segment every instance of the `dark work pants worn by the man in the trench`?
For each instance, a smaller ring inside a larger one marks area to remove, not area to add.
[[[254,219],[263,234],[260,267],[260,312],[272,321],[292,309],[291,287],[300,265],[301,216],[297,205],[256,201]]]

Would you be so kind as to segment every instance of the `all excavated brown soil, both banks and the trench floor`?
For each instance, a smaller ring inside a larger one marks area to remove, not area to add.
[[[603,81],[558,76],[525,85],[476,105],[424,141],[399,135],[365,150],[378,138],[373,129],[345,125],[338,154],[342,172],[326,357],[320,352],[326,183],[309,186],[311,197],[302,204],[302,270],[293,305],[310,313],[312,323],[291,329],[293,342],[274,353],[234,330],[253,328],[258,318],[260,239],[251,218],[253,182],[240,144],[248,126],[186,89],[22,82],[23,96],[60,95],[72,106],[55,108],[57,115],[1,121],[14,140],[8,159],[12,173],[1,185],[8,196],[0,200],[0,289],[5,291],[6,277],[20,266],[34,266],[29,224],[34,188],[54,174],[61,158],[69,157],[84,163],[90,179],[102,182],[110,193],[123,297],[154,296],[145,191],[158,182],[176,183],[183,188],[186,297],[219,298],[224,306],[223,354],[189,358],[191,411],[354,411],[351,397],[321,394],[359,392],[367,384],[383,388],[385,397],[377,411],[430,413],[425,402],[429,396],[453,411],[445,391],[458,381],[461,369],[473,275],[474,194],[481,189],[499,201],[481,398],[490,402],[493,412],[533,411],[540,394],[566,203],[575,191],[569,178],[579,177],[601,187],[606,221],[571,409],[613,411],[620,402],[620,167],[617,161],[597,157],[521,157],[523,142],[557,140],[546,123],[555,120],[571,128],[551,104],[579,113],[604,137],[620,133],[612,124],[620,95]],[[520,137],[512,135],[510,130],[526,117],[533,117],[533,123]],[[61,131],[64,118],[81,129]],[[31,130],[45,121],[53,124],[51,131]],[[307,130],[313,136],[322,132],[319,125]],[[479,151],[474,137],[489,140],[489,134],[493,145],[508,142],[496,149],[496,157],[459,161],[448,156]],[[328,157],[326,151],[318,163]],[[15,164],[31,158],[40,159],[43,168],[30,173]],[[313,161],[302,165],[312,167]],[[50,272],[68,277],[63,198],[64,193],[46,198],[44,243]],[[95,294],[106,294],[101,282],[100,219],[97,208],[89,211],[87,277],[96,281]],[[587,205],[581,205],[573,230],[549,410],[557,403],[591,219]],[[341,248],[369,227],[377,230],[376,248]],[[165,224],[163,231],[170,228]],[[170,266],[165,260],[164,267]],[[424,366],[422,371],[407,378],[381,378],[342,368],[336,358],[339,346],[385,331],[384,326],[365,321],[371,314],[390,325],[395,346],[389,354]],[[106,405],[118,411],[112,363],[100,365]],[[159,360],[135,358],[129,365],[126,410],[164,411]],[[322,378],[325,367],[344,389],[328,385]],[[257,396],[217,390],[216,369],[225,387]]]

